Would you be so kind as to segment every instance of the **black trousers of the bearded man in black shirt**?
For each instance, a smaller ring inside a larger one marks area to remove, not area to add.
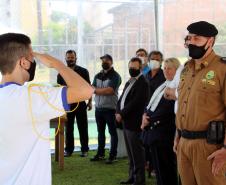
[[[73,110],[77,104],[71,104],[70,109]],[[74,151],[74,122],[76,117],[77,127],[79,131],[79,139],[81,144],[81,151],[87,152],[89,150],[88,142],[88,119],[87,119],[87,106],[85,102],[80,102],[78,108],[70,113],[67,113],[66,123],[66,147],[65,151],[72,153]]]

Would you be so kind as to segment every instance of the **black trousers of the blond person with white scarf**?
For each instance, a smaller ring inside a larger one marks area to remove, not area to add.
[[[177,162],[173,152],[173,143],[158,141],[154,142],[150,148],[157,185],[178,185]]]

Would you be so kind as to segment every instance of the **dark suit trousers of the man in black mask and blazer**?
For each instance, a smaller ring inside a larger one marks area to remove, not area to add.
[[[133,185],[145,184],[145,151],[140,138],[140,132],[124,129],[124,138],[129,158],[129,179]]]

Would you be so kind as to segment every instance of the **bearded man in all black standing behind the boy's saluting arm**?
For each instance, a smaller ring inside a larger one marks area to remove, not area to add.
[[[76,64],[77,55],[74,50],[68,50],[66,52],[66,63],[69,68],[78,73],[84,80],[90,84],[89,72],[87,69]],[[66,86],[66,82],[60,74],[57,75],[57,83]],[[77,103],[70,105],[70,110],[74,110],[77,107]],[[67,113],[67,123],[66,123],[66,147],[65,147],[65,157],[70,157],[74,151],[74,122],[76,117],[77,127],[79,131],[79,139],[81,144],[81,154],[80,157],[86,157],[89,151],[89,137],[88,137],[88,118],[87,109],[92,109],[92,98],[89,99],[86,104],[85,101],[79,102],[78,107],[75,111]]]

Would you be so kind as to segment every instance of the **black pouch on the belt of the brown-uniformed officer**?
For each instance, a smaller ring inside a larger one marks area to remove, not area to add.
[[[224,121],[211,121],[208,124],[207,143],[222,144],[225,137]]]

